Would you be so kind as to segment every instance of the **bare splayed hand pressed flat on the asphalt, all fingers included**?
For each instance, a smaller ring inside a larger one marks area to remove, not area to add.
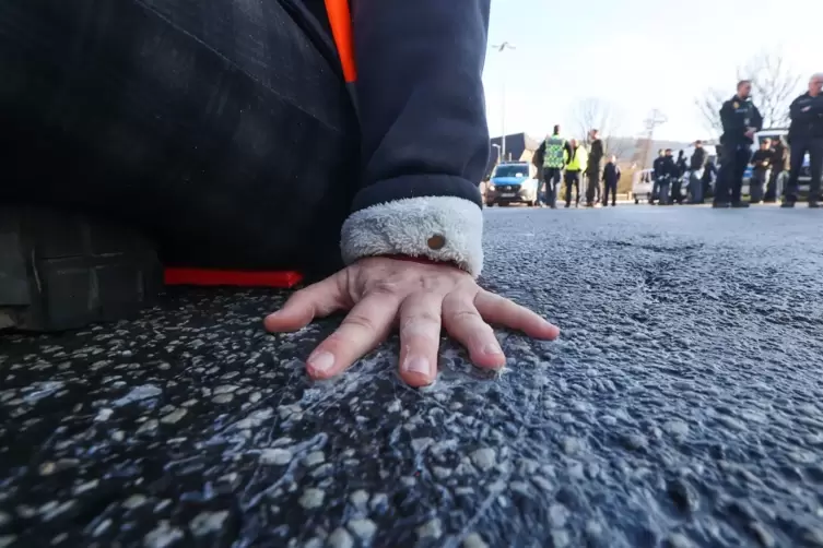
[[[340,327],[306,361],[315,379],[328,379],[373,350],[398,327],[400,376],[412,386],[434,382],[440,329],[469,350],[480,368],[506,365],[490,323],[554,339],[560,330],[534,312],[482,289],[466,272],[446,264],[390,258],[362,259],[295,293],[266,318],[271,332],[297,331],[338,311]]]

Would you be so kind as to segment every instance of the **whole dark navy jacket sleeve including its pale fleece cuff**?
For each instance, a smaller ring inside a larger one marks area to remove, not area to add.
[[[490,1],[352,0],[362,180],[345,263],[403,254],[480,274]]]

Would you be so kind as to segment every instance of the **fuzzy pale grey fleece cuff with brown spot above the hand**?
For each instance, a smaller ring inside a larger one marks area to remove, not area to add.
[[[343,223],[343,261],[399,254],[450,262],[478,277],[483,269],[483,212],[470,200],[423,196],[352,213]]]

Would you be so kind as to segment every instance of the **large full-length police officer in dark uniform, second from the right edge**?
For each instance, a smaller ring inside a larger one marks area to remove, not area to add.
[[[751,93],[752,83],[741,80],[738,82],[738,93],[720,108],[722,166],[713,207],[749,207],[740,199],[740,191],[743,174],[752,157],[754,133],[763,129],[763,117],[752,103]]]

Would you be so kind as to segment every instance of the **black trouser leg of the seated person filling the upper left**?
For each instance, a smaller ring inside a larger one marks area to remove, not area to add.
[[[2,2],[0,202],[136,224],[173,263],[338,269],[358,131],[315,3]]]

